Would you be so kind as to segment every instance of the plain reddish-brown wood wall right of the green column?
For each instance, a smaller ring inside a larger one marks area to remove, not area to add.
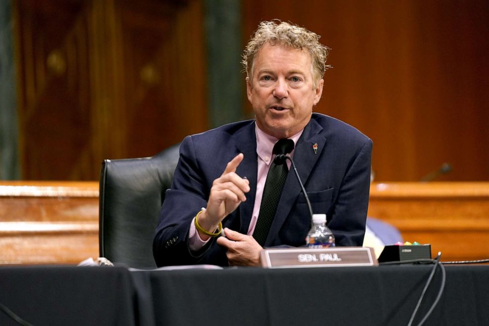
[[[244,40],[278,18],[332,48],[317,111],[372,138],[376,180],[444,162],[439,181],[489,180],[487,1],[243,0],[243,15]]]

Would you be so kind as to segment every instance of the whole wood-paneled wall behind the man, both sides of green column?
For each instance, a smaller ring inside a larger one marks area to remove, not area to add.
[[[202,2],[13,1],[22,178],[98,180],[208,129]],[[487,1],[242,0],[242,48],[274,18],[332,48],[316,109],[373,139],[377,181],[489,180]]]

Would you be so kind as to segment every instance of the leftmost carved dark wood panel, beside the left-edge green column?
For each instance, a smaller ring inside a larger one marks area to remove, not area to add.
[[[20,153],[27,179],[88,177],[88,171],[73,169],[90,159],[83,2],[16,2]]]

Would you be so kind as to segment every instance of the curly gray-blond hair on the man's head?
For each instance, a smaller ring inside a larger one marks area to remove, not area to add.
[[[324,76],[324,72],[331,68],[331,66],[326,65],[330,48],[319,43],[319,37],[321,36],[303,27],[279,20],[261,22],[253,37],[246,44],[241,61],[249,82],[251,83],[253,79],[253,63],[256,54],[265,42],[269,42],[271,45],[279,44],[294,49],[308,50],[313,62],[313,80],[314,88],[316,88],[317,82]]]

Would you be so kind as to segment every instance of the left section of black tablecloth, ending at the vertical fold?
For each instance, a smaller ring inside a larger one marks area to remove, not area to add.
[[[126,268],[2,267],[0,303],[33,325],[137,325]],[[0,311],[0,325],[19,325]]]

